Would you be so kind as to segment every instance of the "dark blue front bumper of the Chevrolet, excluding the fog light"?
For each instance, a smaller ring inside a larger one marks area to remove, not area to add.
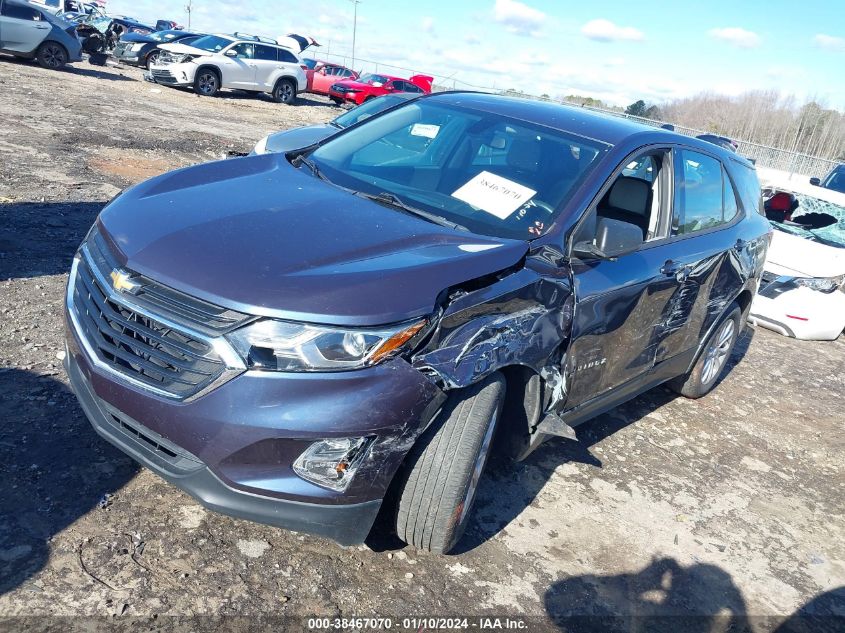
[[[338,374],[246,372],[192,402],[98,368],[66,318],[65,367],[94,429],[211,510],[342,544],[362,542],[393,475],[445,395],[402,360]],[[374,437],[349,487],[298,477],[314,441]]]

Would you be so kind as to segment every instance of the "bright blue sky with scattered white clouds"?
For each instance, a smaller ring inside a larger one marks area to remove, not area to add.
[[[108,0],[113,13],[147,21],[186,22],[185,4]],[[195,30],[294,31],[351,61],[350,0],[193,7]],[[774,88],[845,110],[845,0],[363,0],[356,57],[452,77],[458,88],[574,93],[617,105]],[[374,70],[361,61],[356,68]]]

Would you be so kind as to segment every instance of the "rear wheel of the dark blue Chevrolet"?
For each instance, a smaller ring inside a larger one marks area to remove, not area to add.
[[[713,329],[692,371],[669,381],[667,386],[687,398],[700,398],[708,394],[719,382],[728,364],[741,333],[741,324],[742,310],[733,304],[728,314]]]

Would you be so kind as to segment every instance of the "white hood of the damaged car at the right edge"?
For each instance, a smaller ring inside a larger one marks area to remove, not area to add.
[[[845,274],[845,248],[774,231],[766,269],[777,275],[837,277]]]

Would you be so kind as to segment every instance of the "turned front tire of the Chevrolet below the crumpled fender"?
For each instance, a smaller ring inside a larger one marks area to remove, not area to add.
[[[445,554],[469,523],[505,397],[494,373],[456,391],[408,454],[400,480],[396,534],[421,550]]]

